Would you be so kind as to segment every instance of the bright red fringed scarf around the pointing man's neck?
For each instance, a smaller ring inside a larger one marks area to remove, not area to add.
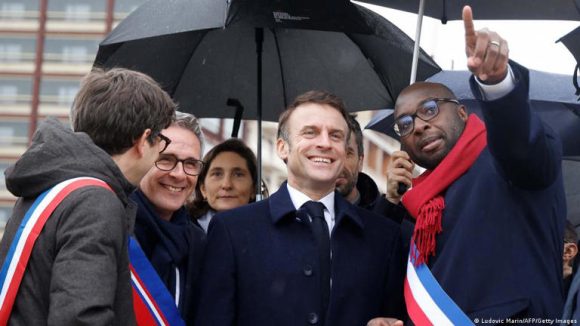
[[[429,256],[435,254],[435,237],[442,231],[445,191],[471,167],[486,145],[485,125],[471,114],[447,156],[434,170],[427,170],[415,178],[413,188],[403,196],[403,205],[416,219],[412,241],[418,253],[413,252],[411,256],[415,266],[427,264]]]

